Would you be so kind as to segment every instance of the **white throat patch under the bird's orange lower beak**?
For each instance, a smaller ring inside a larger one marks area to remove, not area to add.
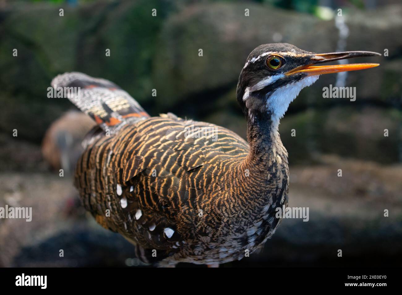
[[[317,81],[319,75],[305,77],[299,81],[287,84],[276,89],[273,93],[268,93],[267,109],[272,114],[274,128],[278,128],[279,120],[283,117],[289,104],[296,98],[299,92],[307,86]]]

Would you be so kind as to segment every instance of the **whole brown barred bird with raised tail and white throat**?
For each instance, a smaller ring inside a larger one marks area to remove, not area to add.
[[[84,140],[75,171],[86,210],[131,241],[144,262],[216,264],[260,248],[279,224],[275,209],[287,205],[288,155],[279,118],[318,78],[319,67],[310,75],[309,66],[340,54],[316,55],[285,43],[254,49],[236,93],[247,142],[214,124],[170,113],[150,117],[110,81],[57,76],[52,85],[82,87],[79,100],[69,98],[102,127]]]

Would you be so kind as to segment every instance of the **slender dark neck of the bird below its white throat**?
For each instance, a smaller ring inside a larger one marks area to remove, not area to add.
[[[270,112],[255,112],[251,118],[247,117],[247,141],[249,164],[260,169],[267,169],[276,162],[287,165],[287,151],[279,136],[278,122]]]

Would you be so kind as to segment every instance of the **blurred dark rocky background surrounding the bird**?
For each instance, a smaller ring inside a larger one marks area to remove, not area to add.
[[[224,267],[400,266],[401,32],[402,4],[392,0],[0,0],[0,206],[33,208],[32,222],[0,220],[0,266],[139,264],[131,244],[84,212],[71,176],[59,177],[55,137],[64,132],[79,142],[91,123],[67,118],[49,135],[55,162],[42,155],[47,128],[74,109],[47,98],[55,75],[110,79],[151,115],[173,112],[245,136],[238,75],[254,47],[275,42],[317,53],[388,49],[389,56],[349,61],[381,65],[344,82],[323,75],[290,105],[279,126],[289,152],[289,206],[309,207],[310,220],[283,220],[262,253]],[[322,88],[336,83],[356,87],[356,101],[323,98]]]

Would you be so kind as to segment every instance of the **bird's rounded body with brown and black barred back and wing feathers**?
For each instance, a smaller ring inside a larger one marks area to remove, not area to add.
[[[251,175],[260,173],[254,172],[255,167],[245,161],[248,144],[218,126],[216,142],[210,138],[186,138],[186,126],[191,125],[211,126],[172,115],[139,121],[124,127],[119,136],[101,137],[86,149],[76,169],[76,186],[85,208],[100,224],[143,248],[168,251],[162,252],[163,256],[177,252],[173,261],[185,259],[180,258],[176,249],[187,248],[189,252],[195,246],[189,241],[194,238],[208,242],[208,247],[199,248],[198,255],[203,256],[203,251],[213,248],[219,252],[224,246],[220,245],[222,234],[231,230],[229,219],[236,224],[235,216],[240,212],[248,212],[248,216],[255,215],[254,210],[258,212],[257,198],[250,196],[236,201],[244,189],[241,184],[250,182],[254,194],[260,194],[256,183],[259,177],[246,176],[246,169]],[[281,171],[282,177],[287,177],[286,168]],[[117,184],[122,187],[121,195],[116,191]],[[125,208],[122,199],[127,202]],[[254,210],[249,203],[253,199]],[[259,205],[262,210],[267,204]],[[107,209],[111,211],[110,218],[105,216]],[[141,212],[139,218],[135,216],[137,210]],[[235,228],[249,227],[241,218],[237,222],[242,223]],[[164,234],[166,228],[174,231],[169,238]],[[236,233],[231,238],[235,236],[240,238],[242,234]],[[247,238],[241,243],[246,246]],[[143,259],[151,261],[151,258]],[[200,261],[205,263],[201,258]]]

